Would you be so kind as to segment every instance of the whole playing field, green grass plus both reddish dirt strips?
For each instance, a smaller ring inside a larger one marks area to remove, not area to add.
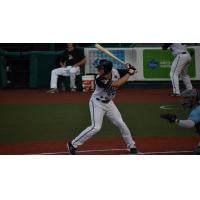
[[[198,142],[194,129],[182,129],[160,118],[172,112],[179,118],[187,111],[169,89],[122,89],[115,98],[124,121],[145,154],[191,154]],[[44,90],[0,90],[0,154],[68,154],[66,143],[90,125],[91,93]],[[102,129],[80,146],[78,154],[128,154],[119,130],[105,117]]]

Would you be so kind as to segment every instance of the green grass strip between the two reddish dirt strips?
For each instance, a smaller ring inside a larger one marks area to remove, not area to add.
[[[124,121],[134,136],[192,136],[193,129],[181,129],[160,119],[163,104],[118,103]],[[72,139],[90,125],[87,103],[81,104],[3,104],[0,105],[0,143]],[[173,110],[178,116],[186,112]],[[97,138],[119,136],[107,118]]]

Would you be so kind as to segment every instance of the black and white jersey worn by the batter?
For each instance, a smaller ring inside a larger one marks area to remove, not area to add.
[[[102,102],[109,102],[115,97],[118,88],[112,87],[112,81],[120,79],[119,72],[116,69],[112,69],[112,79],[105,79],[97,76],[96,88],[92,94],[92,98],[96,98]]]

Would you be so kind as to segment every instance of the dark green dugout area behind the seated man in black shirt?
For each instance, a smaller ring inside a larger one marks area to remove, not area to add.
[[[59,67],[58,59],[63,51],[0,51],[0,86],[3,88],[49,88],[51,70]],[[84,74],[84,66],[81,67]],[[61,83],[69,86],[69,77],[59,77]],[[81,90],[81,75],[76,85]]]

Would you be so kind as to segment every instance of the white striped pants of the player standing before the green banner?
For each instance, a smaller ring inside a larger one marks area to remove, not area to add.
[[[178,54],[174,59],[171,71],[170,78],[173,86],[173,93],[180,94],[179,88],[179,76],[183,80],[186,89],[192,89],[192,84],[190,77],[188,75],[188,66],[191,62],[192,58],[190,54]]]

